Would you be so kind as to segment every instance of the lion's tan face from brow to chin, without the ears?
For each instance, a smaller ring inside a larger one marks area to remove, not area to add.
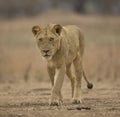
[[[51,58],[59,49],[60,39],[49,32],[48,35],[43,31],[36,38],[37,45],[43,57]]]

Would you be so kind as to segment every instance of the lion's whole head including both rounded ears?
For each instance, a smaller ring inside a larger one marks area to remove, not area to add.
[[[48,25],[44,28],[33,26],[32,32],[43,57],[50,59],[60,48],[62,26]]]

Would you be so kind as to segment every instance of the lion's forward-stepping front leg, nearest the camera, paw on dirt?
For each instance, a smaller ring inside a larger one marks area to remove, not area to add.
[[[63,79],[65,75],[65,65],[62,65],[60,68],[56,68],[54,76],[54,86],[52,88],[52,94],[50,99],[50,105],[61,105],[62,95],[61,88],[63,84]]]

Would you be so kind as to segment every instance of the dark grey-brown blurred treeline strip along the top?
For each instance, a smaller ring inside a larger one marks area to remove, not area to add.
[[[0,0],[0,18],[33,16],[51,8],[85,14],[120,15],[120,0]]]

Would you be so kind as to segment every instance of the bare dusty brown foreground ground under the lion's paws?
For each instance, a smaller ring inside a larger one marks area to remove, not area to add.
[[[94,82],[94,89],[82,88],[83,102],[71,104],[70,85],[64,82],[64,104],[48,105],[50,83],[0,85],[0,117],[120,117],[120,84]],[[84,84],[84,82],[83,82]]]

